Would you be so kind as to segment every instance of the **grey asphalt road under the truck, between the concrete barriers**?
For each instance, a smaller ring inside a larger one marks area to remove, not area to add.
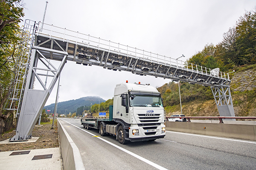
[[[80,119],[59,118],[93,170],[256,170],[256,142],[166,131],[154,142],[122,145],[86,130]]]

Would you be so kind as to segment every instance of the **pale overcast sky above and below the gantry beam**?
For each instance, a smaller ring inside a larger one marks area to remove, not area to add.
[[[23,19],[43,20],[46,0],[24,3]],[[44,22],[172,58],[184,54],[185,61],[207,43],[221,42],[223,33],[255,6],[255,0],[48,0]],[[84,96],[108,100],[116,84],[125,80],[154,87],[171,81],[68,61],[58,101]],[[46,105],[55,102],[56,87]]]

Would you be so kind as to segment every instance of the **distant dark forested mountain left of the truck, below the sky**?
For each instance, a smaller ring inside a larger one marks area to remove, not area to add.
[[[69,114],[76,112],[76,109],[81,106],[90,106],[90,104],[99,104],[102,102],[106,102],[106,100],[102,99],[99,96],[87,96],[81,97],[75,100],[69,100],[65,102],[58,102],[57,113],[58,114]],[[55,107],[55,103],[51,105],[44,106],[45,111],[50,110],[49,113],[53,113]],[[47,112],[48,113],[48,112]]]

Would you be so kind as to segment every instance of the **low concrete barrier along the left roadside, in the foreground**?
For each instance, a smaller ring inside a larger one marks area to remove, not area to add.
[[[57,122],[64,170],[85,170],[78,147],[58,119]]]

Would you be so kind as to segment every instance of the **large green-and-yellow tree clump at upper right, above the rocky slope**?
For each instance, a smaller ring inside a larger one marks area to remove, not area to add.
[[[246,11],[236,22],[236,26],[223,34],[222,42],[216,45],[215,57],[227,70],[256,63],[255,10]]]

